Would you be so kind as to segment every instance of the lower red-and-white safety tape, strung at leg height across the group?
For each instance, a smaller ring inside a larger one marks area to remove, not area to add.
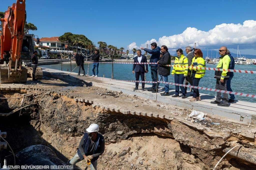
[[[102,79],[102,80],[117,80],[117,79],[106,79],[106,78],[98,78],[98,77],[92,77],[92,78]],[[117,81],[138,82],[138,83],[156,83],[156,81],[137,81],[137,80],[117,80]],[[214,91],[214,92],[228,93],[228,94],[234,94],[234,95],[239,95],[239,96],[244,96],[244,97],[256,98],[255,94],[245,94],[245,93],[240,93],[240,92],[218,90],[218,89],[207,88],[207,87],[190,86],[190,85],[178,84],[178,83],[172,83],[172,82],[165,82],[165,81],[157,81],[157,82],[164,83],[164,84],[170,84],[170,85],[174,85],[174,86],[183,86],[183,87],[200,89],[200,90],[207,90],[207,91]]]

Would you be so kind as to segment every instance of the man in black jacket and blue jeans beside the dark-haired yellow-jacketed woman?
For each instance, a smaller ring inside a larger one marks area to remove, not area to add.
[[[158,74],[162,77],[164,82],[168,82],[168,76],[170,75],[171,67],[165,66],[171,64],[171,55],[168,52],[168,48],[162,45],[161,52],[163,56],[157,62],[159,64]],[[161,93],[161,96],[169,95],[169,84],[164,85],[165,92]]]

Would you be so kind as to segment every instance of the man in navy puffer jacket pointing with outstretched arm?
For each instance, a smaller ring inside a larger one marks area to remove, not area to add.
[[[152,54],[150,57],[149,62],[151,63],[157,63],[159,61],[160,58],[160,50],[161,48],[157,46],[157,44],[154,42],[151,45],[151,49],[147,49],[147,48],[143,48],[141,47],[142,50],[146,51],[149,54]],[[150,71],[151,71],[151,78],[152,81],[157,81],[157,69],[158,69],[158,65],[157,64],[150,64]],[[153,83],[152,84],[152,88],[148,89],[148,91],[151,91],[152,93],[156,93],[156,89],[158,88],[158,84],[159,83]]]

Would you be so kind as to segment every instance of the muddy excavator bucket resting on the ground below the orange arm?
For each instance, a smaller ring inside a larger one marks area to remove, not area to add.
[[[8,66],[0,66],[0,83],[26,83],[28,69],[22,66],[21,70],[9,73]]]

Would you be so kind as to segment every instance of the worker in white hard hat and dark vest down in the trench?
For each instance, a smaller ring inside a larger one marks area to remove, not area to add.
[[[91,162],[90,168],[97,169],[97,160],[105,150],[104,137],[98,133],[99,125],[91,124],[83,135],[79,143],[79,148],[74,157],[68,161],[69,165],[75,165],[76,163],[85,160]]]

